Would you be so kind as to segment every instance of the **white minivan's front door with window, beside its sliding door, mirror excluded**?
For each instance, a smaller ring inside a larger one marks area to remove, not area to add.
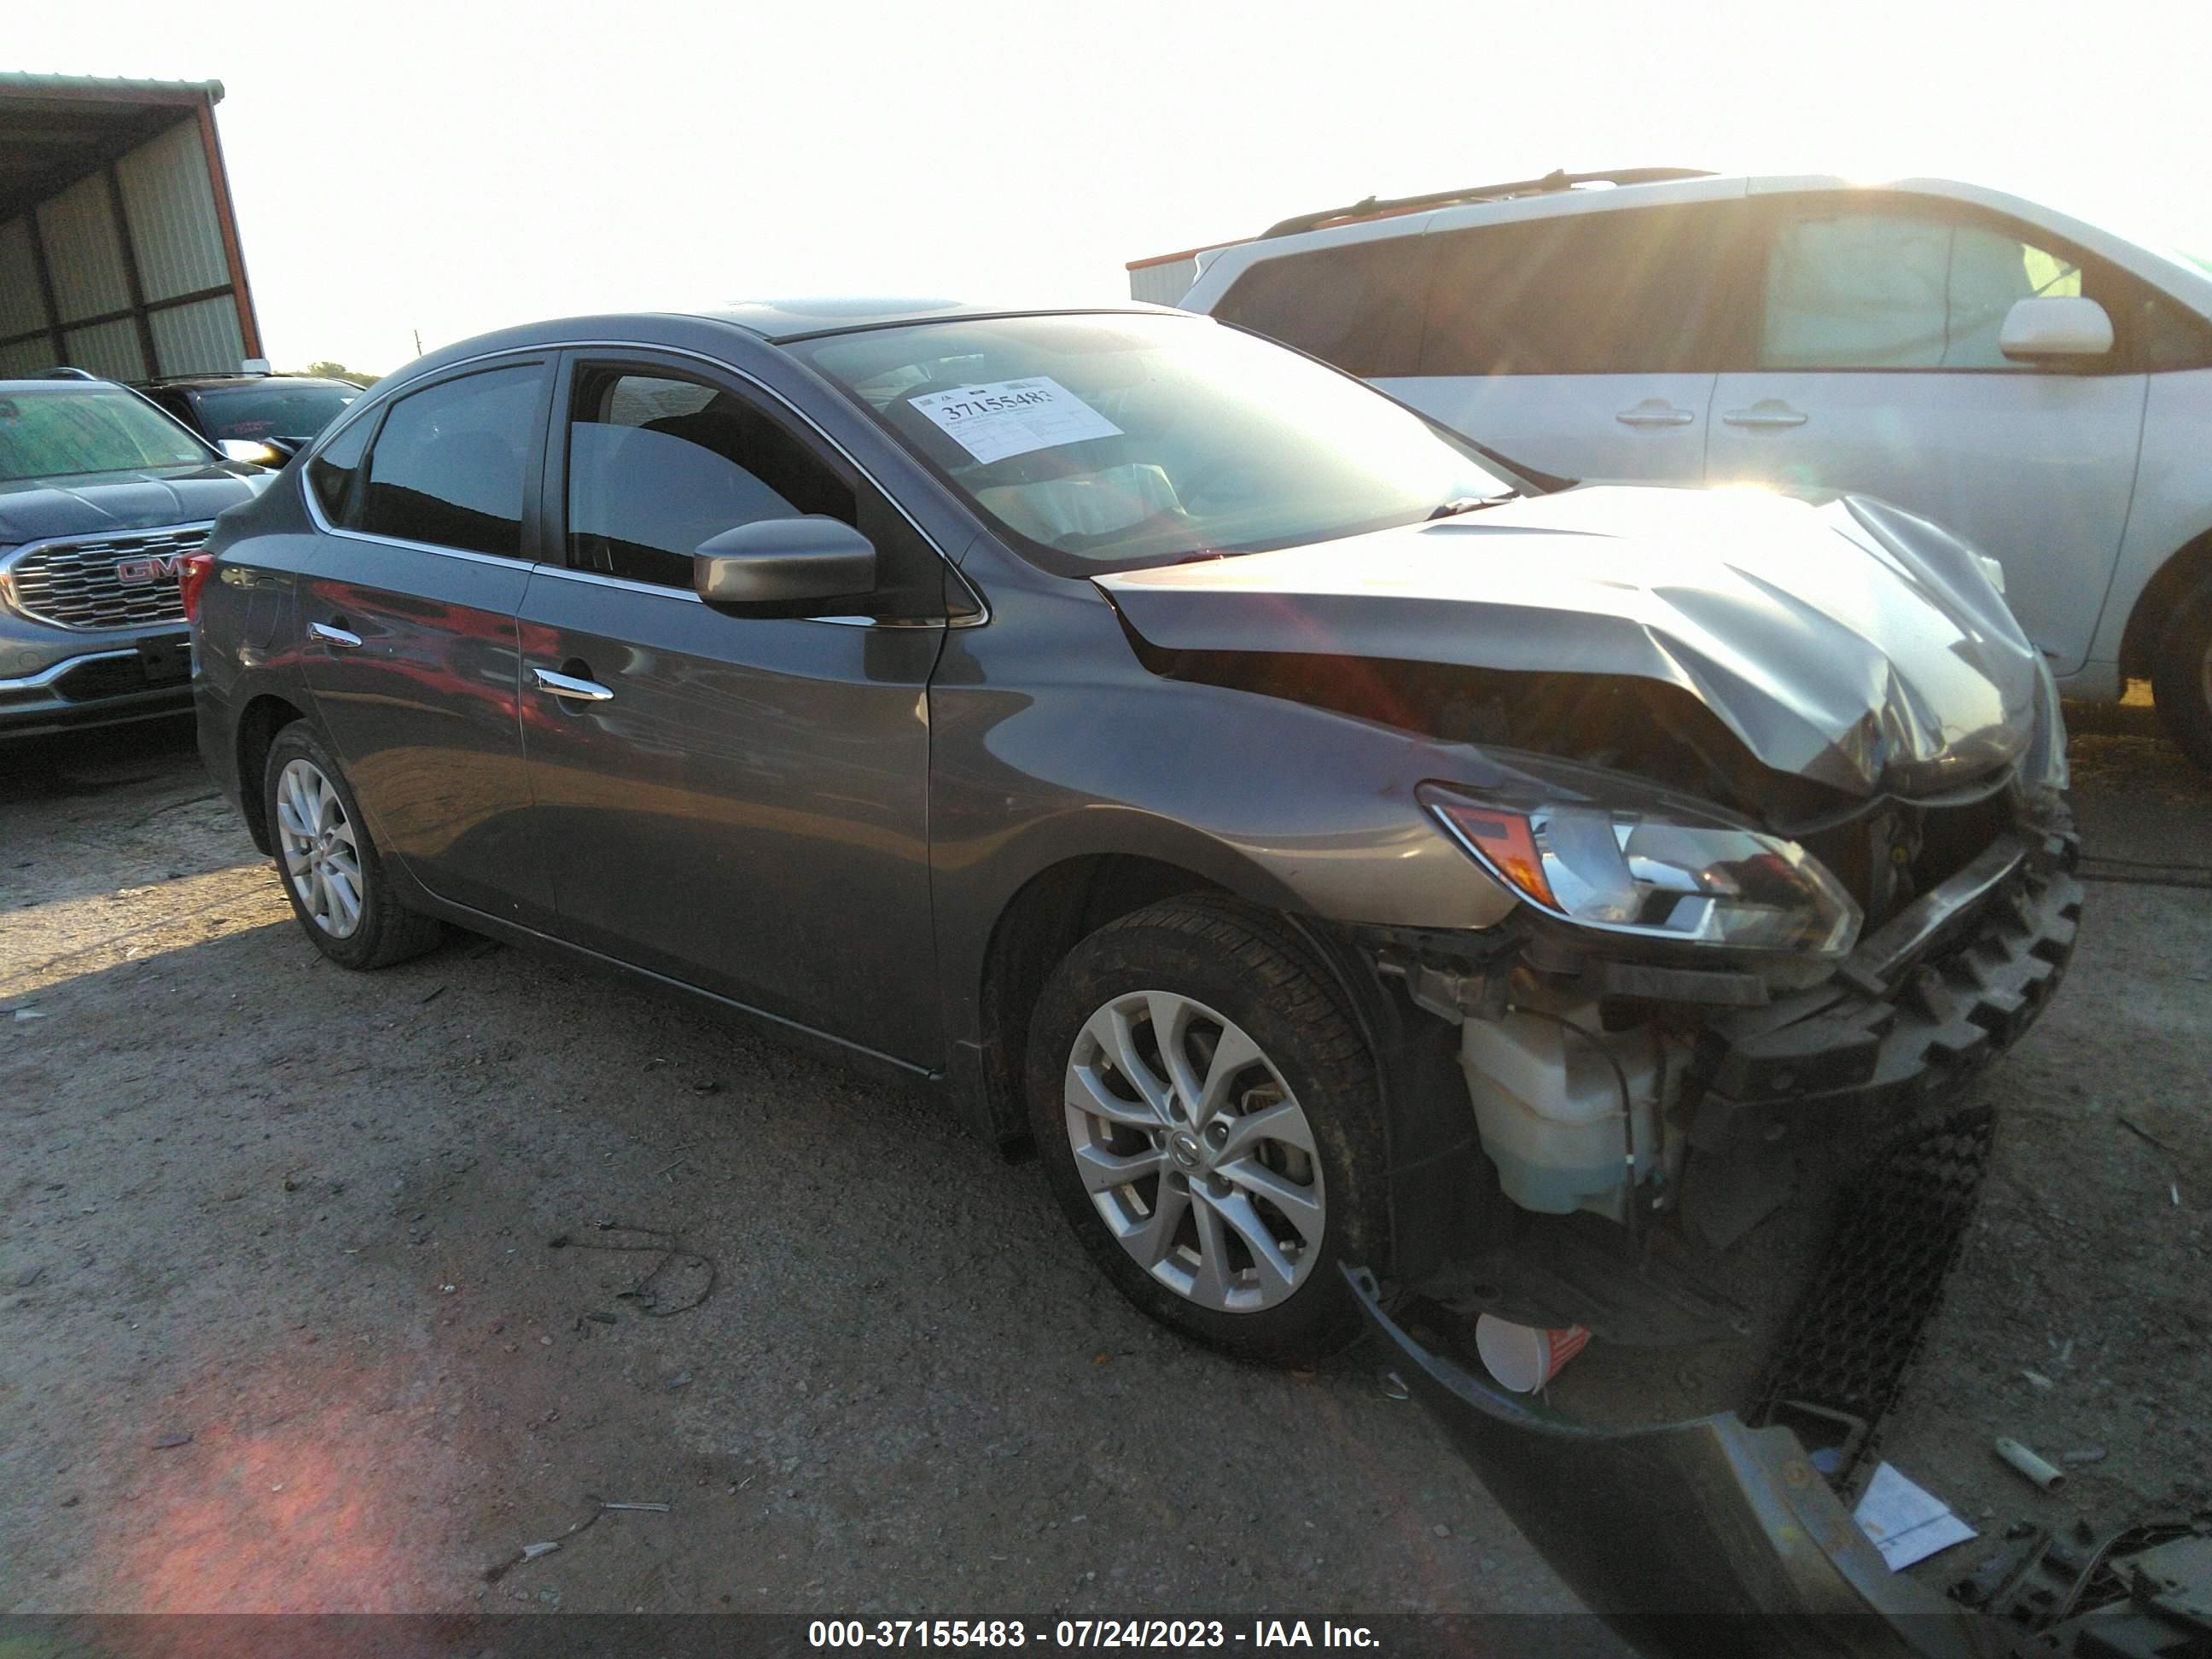
[[[1765,204],[1741,365],[1714,387],[1708,476],[1880,495],[2004,564],[2055,672],[2088,657],[2135,489],[2141,285],[1964,204],[1854,192]],[[2086,294],[2110,356],[2011,363],[2015,301]]]

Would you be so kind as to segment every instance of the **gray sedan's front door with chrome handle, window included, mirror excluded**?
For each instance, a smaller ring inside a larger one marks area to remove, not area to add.
[[[524,754],[560,931],[920,1066],[942,1062],[929,920],[936,553],[745,383],[577,356],[549,467],[562,564],[522,602]],[[692,551],[830,513],[883,591],[834,619],[737,617]],[[863,615],[867,613],[867,615]]]

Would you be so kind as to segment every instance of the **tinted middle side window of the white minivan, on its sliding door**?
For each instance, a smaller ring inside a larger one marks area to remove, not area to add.
[[[1739,221],[1694,204],[1436,232],[1420,372],[1714,372]]]

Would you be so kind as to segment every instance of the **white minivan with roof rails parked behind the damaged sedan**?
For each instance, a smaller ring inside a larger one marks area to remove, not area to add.
[[[1186,310],[1526,467],[1933,518],[2064,695],[2146,677],[2212,765],[2212,268],[1971,184],[1679,168],[1369,199],[1192,263]]]

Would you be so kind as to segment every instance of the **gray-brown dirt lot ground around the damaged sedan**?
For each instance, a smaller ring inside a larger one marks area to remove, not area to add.
[[[1885,1436],[1984,1531],[2212,1498],[2212,781],[2141,708],[2075,768],[2124,880]],[[0,754],[0,1613],[1573,1606],[1376,1354],[1155,1332],[927,1099],[482,942],[321,964],[188,732]],[[487,1584],[595,1498],[668,1511]]]

